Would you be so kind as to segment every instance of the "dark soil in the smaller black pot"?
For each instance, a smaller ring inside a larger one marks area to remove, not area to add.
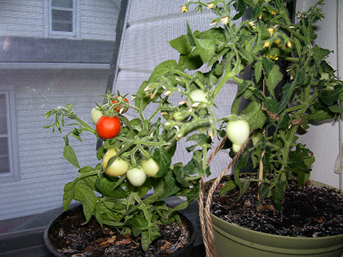
[[[181,216],[181,219],[184,217]],[[49,237],[60,254],[73,257],[170,256],[187,245],[192,230],[187,220],[183,222],[182,228],[177,223],[161,225],[161,236],[150,245],[147,252],[143,252],[139,236],[123,235],[106,225],[101,228],[93,218],[83,225],[84,221],[81,207],[75,208],[75,211],[54,225]]]

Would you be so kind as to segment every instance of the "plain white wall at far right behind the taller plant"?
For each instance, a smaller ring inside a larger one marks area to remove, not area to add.
[[[316,0],[298,0],[297,10],[303,12],[316,2]],[[338,23],[340,21],[342,23],[343,12],[342,8],[339,8],[339,2],[341,2],[340,5],[343,5],[341,0],[324,1],[322,11],[325,19],[316,23],[316,32],[318,34],[316,44],[322,48],[333,50],[327,61],[333,66],[333,69],[337,70],[336,75],[340,73],[340,76],[342,76],[342,62],[339,62],[338,58],[340,51],[340,59],[342,60],[343,26],[339,26]],[[340,40],[338,40],[339,35],[341,35]],[[340,175],[333,172],[340,146],[339,122],[312,125],[306,134],[300,136],[300,141],[305,143],[311,151],[314,151],[316,157],[316,162],[312,166],[311,179],[340,188],[340,184],[342,186]]]

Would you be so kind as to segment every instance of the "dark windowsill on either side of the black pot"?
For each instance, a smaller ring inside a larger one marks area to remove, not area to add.
[[[171,201],[179,201],[178,198]],[[40,215],[25,217],[21,223],[8,228],[8,232],[0,235],[0,256],[1,257],[51,257],[44,245],[43,234],[50,221],[55,219],[62,208],[56,208]],[[193,257],[204,257],[204,245],[202,243],[200,221],[198,218],[198,204],[190,204],[185,212],[189,214],[198,226],[198,234],[194,243]],[[19,219],[16,219],[19,222]],[[14,222],[14,220],[13,220]],[[1,225],[0,225],[1,228]]]

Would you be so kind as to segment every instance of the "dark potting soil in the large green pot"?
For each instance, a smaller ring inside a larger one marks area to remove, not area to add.
[[[333,189],[307,182],[298,189],[296,182],[285,191],[283,209],[277,210],[268,198],[257,207],[257,183],[237,201],[238,189],[224,196],[219,191],[224,177],[213,193],[211,213],[243,228],[281,236],[333,236],[343,234],[343,195]],[[207,193],[204,199],[207,198]]]

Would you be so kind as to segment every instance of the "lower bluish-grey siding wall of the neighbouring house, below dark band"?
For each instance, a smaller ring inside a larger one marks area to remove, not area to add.
[[[42,213],[62,206],[63,187],[78,174],[63,158],[62,136],[44,130],[53,119],[44,114],[51,108],[77,103],[74,111],[91,121],[95,101],[102,102],[108,71],[8,71],[1,73],[0,88],[9,87],[15,101],[17,141],[16,178],[0,175],[0,219]],[[70,138],[82,167],[95,166],[96,138],[84,133],[83,143]]]

